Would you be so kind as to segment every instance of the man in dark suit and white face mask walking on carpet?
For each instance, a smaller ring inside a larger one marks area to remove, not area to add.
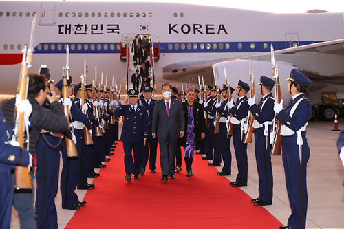
[[[162,85],[164,98],[155,103],[152,124],[152,136],[158,136],[160,145],[160,165],[162,182],[174,179],[175,150],[178,138],[184,136],[184,112],[182,102],[171,98],[172,87],[169,83]]]

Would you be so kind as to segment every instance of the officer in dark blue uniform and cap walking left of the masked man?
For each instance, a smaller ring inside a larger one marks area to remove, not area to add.
[[[147,138],[146,144],[143,146],[142,156],[141,156],[140,174],[144,175],[146,164],[148,162],[148,157],[149,157],[149,171],[151,171],[151,173],[156,172],[156,149],[158,147],[158,138],[153,138],[151,135],[153,113],[155,109],[155,102],[157,101],[152,98],[153,88],[151,86],[144,86],[142,87],[142,91],[143,91],[142,92],[143,98],[139,100],[139,105],[142,105],[146,107],[147,109],[148,126],[149,126],[148,138]]]

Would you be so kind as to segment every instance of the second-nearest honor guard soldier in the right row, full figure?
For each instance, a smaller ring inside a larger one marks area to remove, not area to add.
[[[263,98],[261,98],[258,105],[256,105],[255,96],[248,99],[250,112],[255,117],[253,133],[255,133],[255,155],[259,177],[259,196],[257,199],[252,199],[251,201],[255,205],[265,206],[272,204],[273,179],[270,156],[270,131],[272,119],[275,116],[275,98],[272,97],[271,93],[275,85],[275,80],[261,76],[259,85],[259,92]]]

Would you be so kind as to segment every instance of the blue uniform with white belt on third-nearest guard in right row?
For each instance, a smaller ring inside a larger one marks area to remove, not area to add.
[[[247,184],[247,144],[244,144],[243,121],[247,117],[248,107],[247,97],[242,96],[242,98],[237,99],[235,106],[230,109],[230,113],[232,113],[230,122],[233,123],[233,145],[238,168],[236,182],[241,184]]]

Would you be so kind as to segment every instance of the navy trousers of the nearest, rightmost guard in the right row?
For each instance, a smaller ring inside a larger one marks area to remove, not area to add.
[[[282,161],[286,173],[286,186],[292,214],[288,219],[288,226],[296,229],[304,229],[307,215],[307,162],[310,158],[310,147],[307,140],[303,138],[302,163],[299,159],[299,146],[297,144],[283,143]],[[288,138],[288,137],[287,137]]]

